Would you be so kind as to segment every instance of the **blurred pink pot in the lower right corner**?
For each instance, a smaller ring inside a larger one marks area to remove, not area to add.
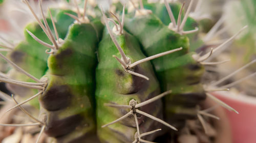
[[[236,109],[239,114],[225,109],[231,126],[233,143],[256,142],[256,98],[235,95],[231,92],[216,92],[217,98]]]

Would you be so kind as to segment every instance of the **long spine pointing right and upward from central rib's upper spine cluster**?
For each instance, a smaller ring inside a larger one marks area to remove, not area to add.
[[[161,53],[149,56],[147,58],[144,58],[142,60],[134,62],[133,64],[129,65],[129,68],[135,67],[135,66],[137,66],[137,65],[139,65],[141,63],[144,63],[144,62],[147,62],[147,61],[159,58],[160,56],[164,56],[166,54],[170,54],[170,53],[173,53],[173,52],[176,52],[176,51],[179,51],[179,50],[182,50],[182,47],[177,48],[177,49],[173,49],[173,50],[168,50],[168,51],[165,51],[165,52],[161,52]]]

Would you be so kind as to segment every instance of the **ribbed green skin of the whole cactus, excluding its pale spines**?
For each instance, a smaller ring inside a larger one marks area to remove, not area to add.
[[[164,5],[153,6],[148,4],[145,8],[152,9],[157,15],[125,19],[124,28],[127,32],[115,35],[132,63],[146,56],[183,48],[152,63],[135,66],[134,72],[150,80],[127,73],[112,57],[116,55],[120,58],[120,53],[106,30],[101,40],[103,25],[100,20],[89,17],[90,23],[73,24],[74,20],[64,14],[68,12],[76,15],[70,10],[52,9],[57,19],[57,31],[60,38],[64,39],[56,51],[46,54],[48,48],[38,44],[26,33],[26,40],[9,54],[18,66],[37,78],[41,77],[41,80],[47,79],[47,87],[33,104],[40,102],[39,119],[45,119],[42,122],[46,124],[45,133],[53,137],[51,143],[94,142],[93,138],[97,137],[101,142],[133,142],[137,131],[133,116],[101,127],[130,111],[105,106],[104,103],[129,105],[132,99],[141,103],[168,90],[172,90],[172,94],[165,96],[163,103],[157,100],[140,107],[140,110],[164,119],[178,129],[184,126],[186,120],[197,118],[197,105],[206,97],[200,83],[204,67],[193,58],[196,53],[190,52],[194,46],[192,44],[200,41],[195,40],[198,33],[184,36],[169,30],[169,17]],[[181,6],[172,4],[171,7],[177,19]],[[51,23],[51,20],[48,21]],[[184,30],[193,30],[196,26],[196,21],[188,18]],[[53,30],[51,24],[50,27]],[[51,43],[38,24],[31,23],[27,28],[42,41]],[[195,41],[191,42],[193,39]],[[18,73],[13,74],[13,77],[33,82]],[[14,87],[11,90],[19,92]],[[32,92],[36,93],[36,90]],[[162,124],[139,114],[138,121],[141,133],[158,128],[165,130]],[[159,135],[154,133],[143,139],[152,141]]]

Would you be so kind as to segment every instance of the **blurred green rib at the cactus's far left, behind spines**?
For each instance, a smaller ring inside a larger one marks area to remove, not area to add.
[[[74,19],[72,19],[65,13],[75,13],[71,10],[61,9],[54,9],[52,11],[54,11],[53,17],[55,17],[55,19],[57,20],[55,25],[57,26],[59,38],[64,39],[68,33],[69,26],[74,22]],[[50,24],[52,23],[51,19],[48,18],[47,21],[49,23],[49,26],[53,30],[53,25]],[[46,71],[48,70],[47,59],[49,55],[45,53],[48,47],[45,47],[39,44],[37,41],[35,41],[26,30],[32,32],[36,37],[38,37],[42,41],[48,44],[51,43],[50,40],[47,38],[46,34],[44,33],[44,31],[41,30],[39,24],[37,22],[33,22],[25,27],[25,40],[20,42],[14,48],[14,50],[8,53],[8,57],[12,62],[14,62],[19,67],[23,68],[25,71],[29,72],[36,78],[41,78],[43,75],[45,75]],[[34,82],[29,77],[17,72],[14,69],[9,71],[9,74],[11,78],[19,81]],[[29,96],[37,93],[37,90],[23,88],[17,85],[7,84],[7,86],[12,93],[21,96],[22,99],[27,99]],[[30,104],[39,108],[38,100],[32,100],[30,101]]]

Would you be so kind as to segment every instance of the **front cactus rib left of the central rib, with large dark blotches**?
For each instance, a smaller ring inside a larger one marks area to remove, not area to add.
[[[48,59],[48,85],[39,101],[41,116],[47,117],[45,132],[57,142],[84,142],[96,134],[93,95],[99,34],[93,23],[100,21],[72,25]]]

